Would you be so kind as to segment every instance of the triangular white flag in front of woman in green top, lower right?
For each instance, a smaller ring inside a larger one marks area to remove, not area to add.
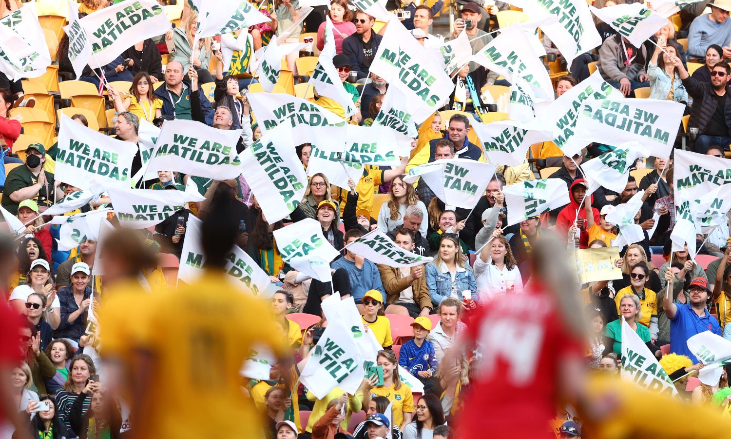
[[[622,319],[622,369],[623,379],[635,381],[637,386],[673,397],[678,394],[673,381],[667,376],[645,342]]]

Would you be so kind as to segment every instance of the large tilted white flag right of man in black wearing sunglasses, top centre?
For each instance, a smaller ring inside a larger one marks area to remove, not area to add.
[[[395,15],[388,21],[371,72],[404,93],[417,124],[438,110],[454,89],[442,61],[430,56]]]

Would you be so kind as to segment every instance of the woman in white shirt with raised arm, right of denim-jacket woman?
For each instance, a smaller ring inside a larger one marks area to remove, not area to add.
[[[482,303],[504,294],[523,293],[518,263],[500,230],[493,231],[492,240],[482,247],[474,260],[474,277]]]

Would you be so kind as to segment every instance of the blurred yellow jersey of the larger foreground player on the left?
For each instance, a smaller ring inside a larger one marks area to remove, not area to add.
[[[154,386],[135,419],[140,438],[259,435],[261,415],[241,391],[240,369],[254,345],[289,353],[270,305],[232,290],[223,271],[207,269],[189,285],[152,295],[145,306],[151,311],[143,320],[134,316],[135,346],[151,354]],[[186,404],[170,410],[181,401]]]

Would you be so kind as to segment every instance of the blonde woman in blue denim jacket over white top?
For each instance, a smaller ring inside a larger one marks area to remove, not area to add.
[[[447,297],[460,301],[462,309],[477,307],[477,281],[471,267],[463,263],[462,249],[456,236],[442,237],[439,251],[426,266],[426,285],[434,307]]]

